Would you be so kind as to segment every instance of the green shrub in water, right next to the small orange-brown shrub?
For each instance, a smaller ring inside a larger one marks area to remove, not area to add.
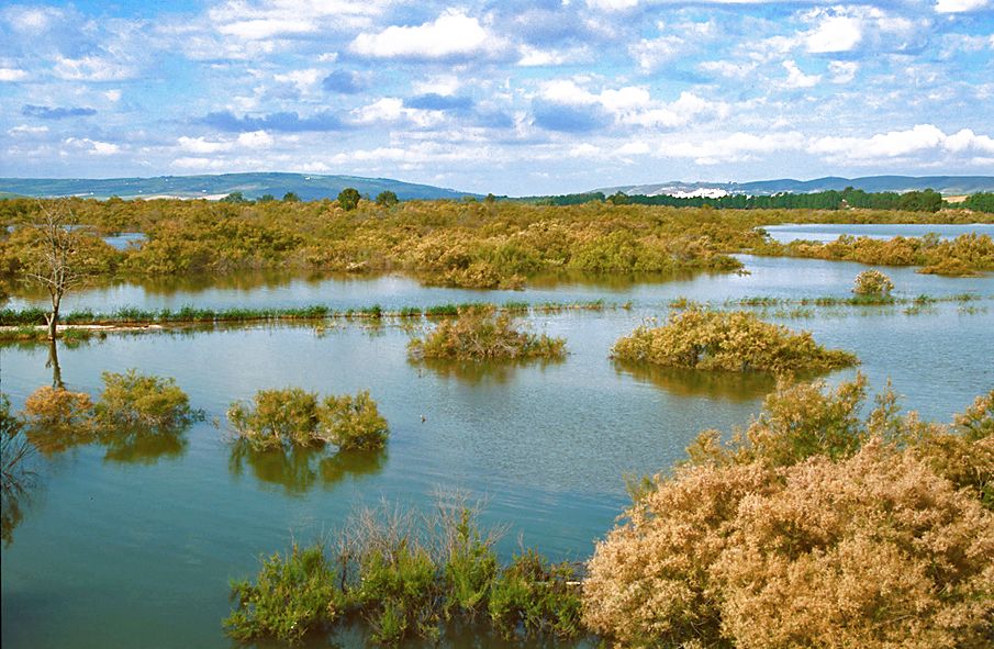
[[[176,430],[189,425],[197,413],[175,379],[139,374],[103,372],[103,392],[97,404],[98,421],[105,426],[142,427]]]

